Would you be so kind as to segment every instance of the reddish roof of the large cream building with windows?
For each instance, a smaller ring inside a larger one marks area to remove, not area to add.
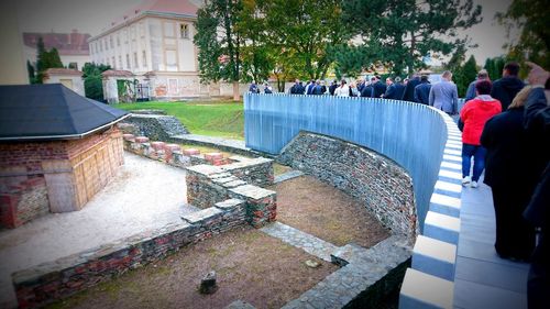
[[[144,15],[175,16],[175,18],[197,18],[198,7],[189,0],[145,0],[141,5],[133,8],[122,16],[112,21],[108,27],[101,30],[98,35],[88,37],[88,41],[96,40],[119,26],[132,23]]]

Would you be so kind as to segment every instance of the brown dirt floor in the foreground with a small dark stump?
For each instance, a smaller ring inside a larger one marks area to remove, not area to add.
[[[305,265],[307,260],[321,264]],[[280,308],[338,267],[258,230],[242,228],[190,245],[46,308],[223,308],[237,299],[256,308]],[[198,293],[216,271],[219,289]]]

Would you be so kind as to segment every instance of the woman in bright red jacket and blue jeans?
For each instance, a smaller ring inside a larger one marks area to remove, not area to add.
[[[490,96],[491,88],[491,81],[477,81],[475,84],[477,97],[468,101],[460,112],[460,119],[464,123],[462,131],[462,185],[471,184],[472,188],[477,188],[477,181],[483,168],[485,168],[486,150],[480,143],[483,126],[490,118],[502,111],[501,102]],[[473,175],[470,176],[472,156],[474,157],[474,168]]]

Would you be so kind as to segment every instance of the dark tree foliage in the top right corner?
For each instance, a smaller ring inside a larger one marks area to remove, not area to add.
[[[498,22],[506,26],[508,38],[512,31],[520,31],[517,42],[508,42],[507,57],[522,63],[535,62],[544,68],[550,67],[550,29],[548,16],[550,5],[544,0],[513,0],[506,12],[496,14]],[[524,73],[526,67],[522,66]]]

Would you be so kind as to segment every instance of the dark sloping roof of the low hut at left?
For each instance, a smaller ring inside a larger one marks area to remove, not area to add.
[[[0,141],[79,139],[127,115],[61,84],[0,86]]]

